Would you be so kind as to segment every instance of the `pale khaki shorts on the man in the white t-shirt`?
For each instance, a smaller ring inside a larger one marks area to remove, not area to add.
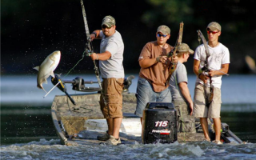
[[[206,88],[206,94],[210,95],[210,87]],[[204,86],[196,83],[194,88],[194,109],[193,115],[196,118],[220,118],[221,117],[221,89],[214,88],[214,98],[210,106],[206,106]]]

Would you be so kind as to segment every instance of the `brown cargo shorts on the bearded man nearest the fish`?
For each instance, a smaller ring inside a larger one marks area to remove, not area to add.
[[[122,118],[123,80],[123,78],[103,78],[102,89],[106,105],[101,95],[100,106],[104,118]]]

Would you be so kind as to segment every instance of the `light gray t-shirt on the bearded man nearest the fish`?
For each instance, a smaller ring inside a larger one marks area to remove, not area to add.
[[[111,53],[111,57],[106,61],[99,61],[99,70],[102,78],[124,78],[124,69],[122,66],[124,44],[121,34],[116,30],[110,37],[100,32],[102,37],[100,52],[106,50]]]

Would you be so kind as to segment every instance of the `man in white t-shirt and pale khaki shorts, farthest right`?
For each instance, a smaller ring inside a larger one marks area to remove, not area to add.
[[[208,73],[202,73],[202,67],[206,62],[206,49],[202,45],[198,46],[194,54],[194,74],[197,75],[194,89],[194,117],[200,118],[202,130],[207,141],[210,141],[207,118],[213,118],[215,140],[213,142],[222,144],[221,142],[221,86],[222,75],[226,74],[230,65],[230,52],[226,46],[218,42],[221,35],[222,27],[218,22],[210,22],[207,26],[208,49],[210,57],[208,58]],[[210,106],[206,106],[206,97],[210,96],[210,77],[212,80],[213,100]],[[206,90],[206,93],[205,93]]]

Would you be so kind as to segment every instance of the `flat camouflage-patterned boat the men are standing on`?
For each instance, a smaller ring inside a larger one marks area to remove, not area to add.
[[[142,143],[142,125],[140,118],[134,114],[136,108],[136,96],[129,92],[134,76],[125,78],[123,98],[123,119],[120,128],[120,138],[122,144]],[[57,84],[57,83],[60,84]],[[82,78],[74,78],[72,81],[62,80],[58,74],[52,78],[52,83],[57,85],[65,94],[56,95],[51,106],[51,117],[54,127],[62,145],[90,145],[99,144],[98,135],[106,134],[107,124],[103,118],[99,106],[99,88],[87,87],[86,84],[97,82],[85,82]],[[68,94],[65,83],[72,83],[73,90],[86,93]],[[195,120],[195,133],[178,132],[178,142],[202,142],[205,141],[202,127],[197,118]],[[214,138],[213,123],[209,119],[209,130],[211,137]],[[229,128],[222,122],[222,142],[230,144],[243,143]]]

